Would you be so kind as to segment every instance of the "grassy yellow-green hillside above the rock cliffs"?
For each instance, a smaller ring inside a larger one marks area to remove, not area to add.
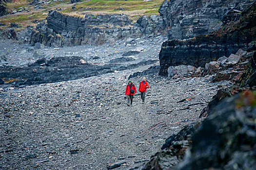
[[[36,3],[35,3],[36,2]],[[6,29],[11,22],[20,27],[16,31],[45,21],[49,10],[62,14],[83,17],[85,14],[126,14],[133,22],[143,15],[158,15],[163,0],[81,0],[71,3],[70,0],[13,0],[5,2],[9,15],[0,17],[0,29]]]

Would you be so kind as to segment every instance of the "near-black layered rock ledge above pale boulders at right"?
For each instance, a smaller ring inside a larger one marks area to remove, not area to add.
[[[170,66],[193,65],[204,67],[222,56],[236,53],[256,40],[256,3],[243,11],[238,20],[228,22],[223,28],[208,35],[198,35],[189,40],[168,40],[159,53],[160,75],[167,76]]]

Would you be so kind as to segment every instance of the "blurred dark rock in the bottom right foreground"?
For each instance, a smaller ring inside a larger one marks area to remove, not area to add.
[[[255,97],[252,91],[244,91],[214,107],[192,137],[191,152],[179,169],[254,170]]]

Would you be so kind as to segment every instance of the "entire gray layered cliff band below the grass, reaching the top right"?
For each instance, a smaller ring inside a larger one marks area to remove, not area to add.
[[[134,24],[126,15],[78,18],[50,11],[46,26],[39,24],[37,29],[30,30],[27,39],[32,45],[40,42],[49,46],[72,46],[111,43],[120,38],[167,32],[170,39],[190,38],[217,30],[225,14],[239,14],[254,1],[165,0],[159,15],[142,16]]]

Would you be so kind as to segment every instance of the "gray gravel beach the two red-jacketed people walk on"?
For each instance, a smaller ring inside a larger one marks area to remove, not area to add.
[[[210,76],[175,81],[148,76],[146,103],[124,99],[125,70],[86,79],[0,90],[0,168],[106,170],[141,165],[165,139],[198,119],[221,86]],[[142,77],[134,78],[138,88]],[[191,97],[190,101],[178,101]],[[194,105],[193,105],[194,104]]]

